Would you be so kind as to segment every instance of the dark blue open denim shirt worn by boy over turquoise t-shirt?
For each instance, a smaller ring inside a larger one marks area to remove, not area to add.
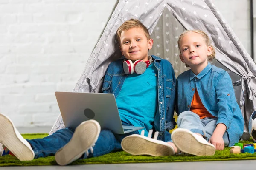
[[[175,128],[176,125],[175,119],[173,118],[175,108],[175,73],[169,61],[157,56],[152,56],[152,58],[154,59],[154,66],[158,71],[156,75],[158,107],[154,118],[154,131],[159,132],[158,140],[166,142],[171,139],[169,130]],[[123,70],[123,60],[119,59],[111,62],[106,71],[102,86],[103,93],[112,93],[115,95],[115,98],[121,91],[122,85],[127,77]],[[148,95],[150,95],[150,92]]]

